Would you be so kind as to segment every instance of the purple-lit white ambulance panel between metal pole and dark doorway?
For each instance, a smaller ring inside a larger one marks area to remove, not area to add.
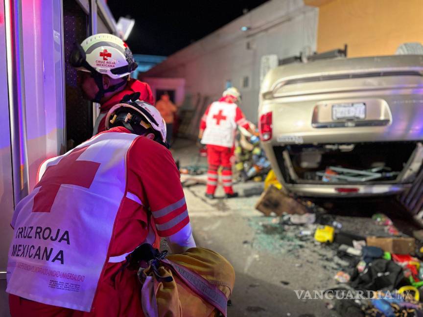
[[[65,150],[62,22],[60,1],[22,7],[29,190],[41,163]]]

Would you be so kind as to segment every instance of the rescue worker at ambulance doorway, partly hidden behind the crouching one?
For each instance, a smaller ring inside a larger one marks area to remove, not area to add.
[[[154,104],[150,86],[130,78],[138,65],[128,45],[112,34],[95,34],[81,45],[75,43],[71,65],[81,70],[80,87],[84,98],[100,104],[93,136],[105,130],[106,113],[124,95],[140,92],[140,100]]]

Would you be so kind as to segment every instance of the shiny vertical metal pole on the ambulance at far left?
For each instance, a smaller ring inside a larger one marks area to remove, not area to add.
[[[16,206],[29,192],[21,0],[5,0],[4,11],[13,199]]]

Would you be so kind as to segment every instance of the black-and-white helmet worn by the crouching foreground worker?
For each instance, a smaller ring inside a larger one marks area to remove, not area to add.
[[[145,135],[165,145],[166,123],[162,115],[154,106],[138,98],[140,92],[125,95],[117,105],[110,108],[106,114],[106,130],[121,125],[135,134]]]

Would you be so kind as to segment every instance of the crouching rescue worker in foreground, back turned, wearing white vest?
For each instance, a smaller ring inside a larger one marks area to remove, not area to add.
[[[135,97],[134,97],[135,95]],[[144,316],[137,246],[195,247],[179,171],[153,106],[125,98],[106,130],[40,167],[15,209],[7,269],[12,317]]]

